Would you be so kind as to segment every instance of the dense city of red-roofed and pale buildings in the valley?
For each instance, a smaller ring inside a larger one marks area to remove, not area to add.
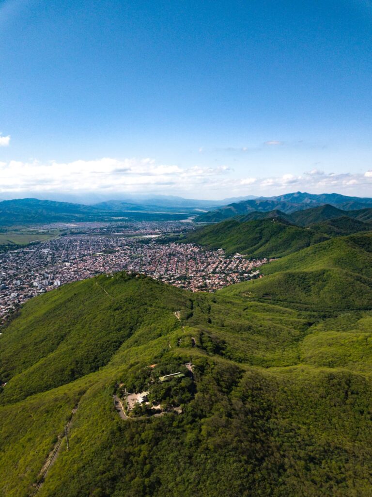
[[[268,261],[157,242],[193,229],[191,223],[53,224],[39,232],[56,229],[58,238],[0,253],[0,324],[27,299],[99,273],[144,273],[191,291],[213,292],[257,277],[257,268]]]

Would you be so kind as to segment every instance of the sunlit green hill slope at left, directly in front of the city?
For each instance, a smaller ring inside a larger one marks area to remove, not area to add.
[[[0,378],[12,380],[0,402],[20,400],[97,370],[141,327],[149,331],[161,321],[168,331],[164,313],[169,314],[180,292],[165,287],[160,299],[158,287],[149,279],[140,283],[124,274],[100,276],[32,299],[2,337]]]

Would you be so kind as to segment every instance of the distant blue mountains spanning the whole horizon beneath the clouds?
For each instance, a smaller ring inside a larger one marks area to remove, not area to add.
[[[224,201],[154,196],[137,200],[107,200],[93,205],[23,198],[0,202],[0,226],[78,221],[169,221],[195,216],[196,222],[218,223],[236,216],[245,220],[280,217],[297,225],[323,222],[345,215],[363,222],[371,219],[372,198],[337,193],[288,193],[271,198],[249,198],[223,206]],[[325,206],[322,210],[322,206]],[[319,211],[309,208],[319,208]],[[301,211],[306,211],[301,214]],[[364,212],[362,212],[364,211]],[[352,214],[353,213],[353,214]]]

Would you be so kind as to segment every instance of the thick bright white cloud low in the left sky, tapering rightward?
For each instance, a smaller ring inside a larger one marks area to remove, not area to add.
[[[182,168],[157,165],[153,159],[39,161],[0,163],[0,192],[192,190],[226,174],[227,166]]]

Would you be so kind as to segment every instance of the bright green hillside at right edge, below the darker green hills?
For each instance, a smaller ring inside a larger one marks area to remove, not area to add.
[[[372,308],[372,234],[304,248],[262,267],[265,275],[222,290],[307,310]]]

